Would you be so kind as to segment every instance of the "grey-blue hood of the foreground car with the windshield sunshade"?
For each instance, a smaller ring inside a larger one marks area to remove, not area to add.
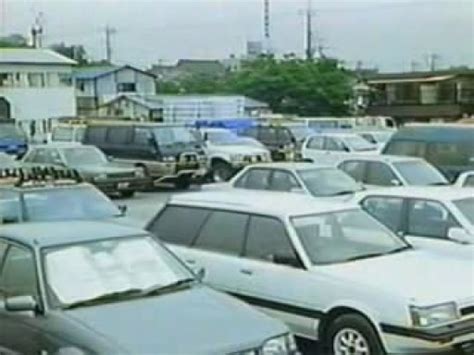
[[[221,355],[287,332],[282,323],[205,286],[66,313],[133,354]]]

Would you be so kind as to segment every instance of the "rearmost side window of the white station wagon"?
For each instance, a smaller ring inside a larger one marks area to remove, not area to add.
[[[190,245],[209,213],[206,209],[168,206],[148,230],[166,243]]]

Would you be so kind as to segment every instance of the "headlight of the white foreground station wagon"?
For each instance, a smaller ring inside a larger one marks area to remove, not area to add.
[[[456,303],[443,303],[430,307],[410,307],[413,325],[416,327],[430,327],[448,323],[459,319]]]

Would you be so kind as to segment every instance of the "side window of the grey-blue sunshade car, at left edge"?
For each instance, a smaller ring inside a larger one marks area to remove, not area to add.
[[[33,253],[11,246],[0,274],[0,293],[5,297],[37,296],[36,267]]]

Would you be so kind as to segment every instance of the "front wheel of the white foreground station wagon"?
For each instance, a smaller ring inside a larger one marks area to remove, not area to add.
[[[372,325],[358,314],[344,314],[329,324],[323,339],[325,354],[383,355],[385,350]],[[357,351],[357,347],[359,351]],[[344,349],[348,349],[344,352]],[[351,352],[352,350],[352,352]]]

